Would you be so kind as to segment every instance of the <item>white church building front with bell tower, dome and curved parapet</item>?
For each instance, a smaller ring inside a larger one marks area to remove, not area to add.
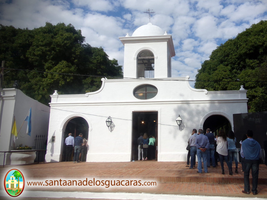
[[[189,85],[189,76],[171,77],[175,56],[172,36],[148,23],[124,45],[124,78],[102,79],[98,91],[51,95],[46,162],[64,158],[66,126],[81,117],[88,123],[87,162],[137,160],[137,138],[147,132],[156,138],[157,161],[186,161],[192,129],[203,128],[211,116],[221,116],[233,130],[233,114],[247,113],[246,90],[207,91]],[[182,124],[176,123],[180,115]],[[111,126],[106,120],[110,116]],[[76,135],[78,135],[77,133]]]

